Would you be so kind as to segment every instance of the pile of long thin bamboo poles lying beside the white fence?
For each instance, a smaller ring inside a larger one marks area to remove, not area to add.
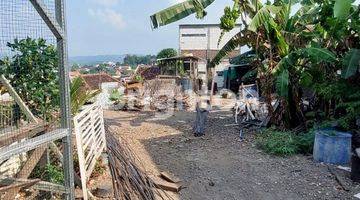
[[[164,191],[155,189],[154,182],[137,164],[141,163],[139,158],[129,149],[125,140],[118,137],[108,126],[106,126],[106,142],[116,199],[171,199]]]

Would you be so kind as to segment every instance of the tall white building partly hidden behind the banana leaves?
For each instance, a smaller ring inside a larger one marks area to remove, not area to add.
[[[206,80],[206,66],[217,55],[219,50],[237,33],[241,27],[237,25],[232,31],[226,33],[218,45],[221,35],[219,24],[183,24],[179,26],[179,43],[180,54],[192,54],[193,56],[203,59],[199,61],[199,73]],[[215,67],[217,76],[215,82],[218,87],[223,87],[222,71],[230,64],[229,58],[240,54],[240,48],[222,60]]]

